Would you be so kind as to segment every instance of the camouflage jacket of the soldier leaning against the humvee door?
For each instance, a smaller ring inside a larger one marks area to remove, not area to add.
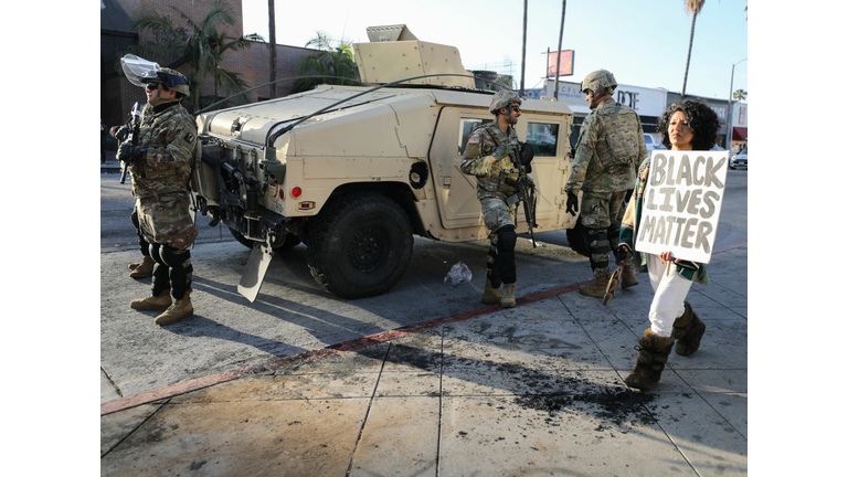
[[[463,173],[477,178],[477,199],[506,199],[507,195],[516,193],[516,188],[506,181],[518,178],[518,168],[512,163],[512,159],[507,156],[489,163],[491,153],[505,142],[518,145],[518,135],[512,127],[505,132],[496,121],[486,123],[468,137],[459,168]]]

